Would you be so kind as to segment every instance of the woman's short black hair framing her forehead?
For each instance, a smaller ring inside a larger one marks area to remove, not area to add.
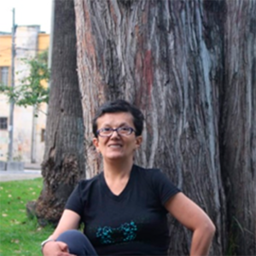
[[[143,121],[144,116],[142,111],[136,106],[132,105],[125,100],[115,100],[113,102],[104,103],[96,112],[94,119],[92,120],[92,131],[95,137],[97,137],[97,119],[105,113],[119,113],[127,112],[131,113],[133,117],[133,124],[135,126],[135,135],[140,136],[143,133]]]

